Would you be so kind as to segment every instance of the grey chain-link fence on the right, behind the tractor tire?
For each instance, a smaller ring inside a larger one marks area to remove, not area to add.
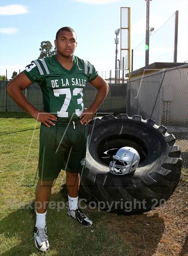
[[[188,64],[128,82],[128,116],[151,118],[173,133],[188,168]]]

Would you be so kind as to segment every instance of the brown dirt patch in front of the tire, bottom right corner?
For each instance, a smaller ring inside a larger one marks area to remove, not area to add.
[[[161,207],[141,215],[114,214],[107,223],[132,246],[130,256],[188,256],[188,182],[182,178]]]

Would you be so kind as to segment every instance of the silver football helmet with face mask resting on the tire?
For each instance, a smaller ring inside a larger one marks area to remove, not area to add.
[[[137,150],[130,147],[120,148],[113,161],[110,162],[110,171],[113,174],[124,175],[135,171],[140,162],[140,156]]]

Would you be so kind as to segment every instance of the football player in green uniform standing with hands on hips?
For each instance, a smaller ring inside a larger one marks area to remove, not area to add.
[[[85,170],[86,125],[109,91],[107,82],[98,75],[94,66],[74,55],[77,35],[72,28],[60,28],[54,43],[56,55],[33,60],[9,82],[6,89],[21,108],[41,122],[34,243],[42,252],[50,247],[46,225],[47,203],[53,182],[61,169],[66,171],[67,215],[84,226],[92,225],[90,218],[78,208],[80,173]],[[43,93],[43,111],[36,109],[22,92],[34,82],[40,85]],[[87,82],[98,89],[90,108],[84,108]]]

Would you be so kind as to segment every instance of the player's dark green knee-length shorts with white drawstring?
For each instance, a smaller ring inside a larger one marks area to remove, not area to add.
[[[61,169],[78,173],[85,169],[87,127],[80,121],[40,127],[38,177],[54,180]]]

